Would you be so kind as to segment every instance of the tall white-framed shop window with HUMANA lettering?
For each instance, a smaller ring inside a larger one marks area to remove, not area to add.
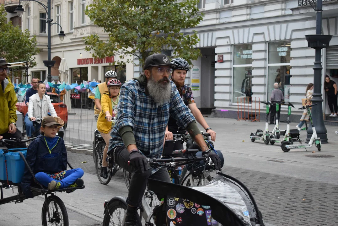
[[[235,45],[233,55],[233,103],[251,103],[252,44]]]

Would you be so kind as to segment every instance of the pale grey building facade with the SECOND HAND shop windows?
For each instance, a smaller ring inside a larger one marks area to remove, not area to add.
[[[201,67],[200,107],[215,107],[217,117],[237,117],[240,106],[264,110],[258,101],[270,100],[275,82],[286,101],[301,106],[306,86],[313,83],[315,61],[315,50],[308,48],[305,39],[315,34],[316,26],[315,11],[307,0],[201,0],[199,7],[203,21],[185,32],[199,33],[197,48],[202,57],[194,66]],[[322,88],[325,75],[338,82],[337,12],[337,1],[323,2],[322,34],[333,37],[330,47],[322,50]],[[214,55],[213,71],[205,68],[210,65],[209,55]],[[322,94],[324,112],[329,115]]]

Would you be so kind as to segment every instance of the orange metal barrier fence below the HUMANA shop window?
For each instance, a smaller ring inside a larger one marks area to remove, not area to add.
[[[251,122],[260,122],[260,104],[259,97],[237,97],[237,121],[250,120]]]

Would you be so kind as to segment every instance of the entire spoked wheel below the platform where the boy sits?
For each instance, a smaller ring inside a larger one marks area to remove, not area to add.
[[[49,209],[49,217],[47,208]],[[63,201],[55,196],[51,195],[45,200],[42,206],[42,225],[57,225],[68,226],[68,214]]]

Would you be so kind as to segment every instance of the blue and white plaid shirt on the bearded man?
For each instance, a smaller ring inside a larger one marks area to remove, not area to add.
[[[183,128],[195,121],[190,109],[180,97],[176,85],[172,81],[170,85],[171,97],[162,106],[146,95],[145,87],[138,80],[131,79],[122,85],[109,150],[123,145],[118,131],[124,126],[131,126],[139,151],[147,157],[160,158],[169,116],[176,119]],[[153,169],[152,173],[157,170]]]

